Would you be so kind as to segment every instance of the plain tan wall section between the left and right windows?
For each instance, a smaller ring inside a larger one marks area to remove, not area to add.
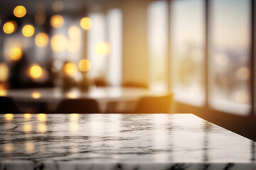
[[[149,83],[146,9],[149,1],[122,1],[123,70],[122,82]]]

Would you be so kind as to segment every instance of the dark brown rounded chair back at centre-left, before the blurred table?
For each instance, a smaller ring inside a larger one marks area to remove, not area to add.
[[[100,113],[97,101],[90,98],[65,99],[62,101],[56,113]]]

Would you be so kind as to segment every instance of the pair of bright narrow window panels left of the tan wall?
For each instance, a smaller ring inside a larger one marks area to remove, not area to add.
[[[87,56],[91,62],[90,76],[106,78],[117,86],[122,77],[122,11],[111,9],[91,13],[92,28],[88,30]]]

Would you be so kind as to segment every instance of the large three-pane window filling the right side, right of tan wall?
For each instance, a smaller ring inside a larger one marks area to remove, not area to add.
[[[154,1],[148,10],[151,86],[165,89],[170,83],[175,100],[194,108],[250,113],[252,0],[168,2]],[[166,44],[170,56],[164,53]],[[168,59],[171,72],[164,64]],[[171,82],[158,79],[166,72]]]

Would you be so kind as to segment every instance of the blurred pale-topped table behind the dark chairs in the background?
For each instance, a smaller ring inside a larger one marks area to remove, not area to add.
[[[4,91],[4,96],[9,96],[16,101],[19,108],[24,106],[35,107],[43,106],[47,108],[46,112],[55,111],[60,101],[65,98],[92,98],[95,99],[105,113],[109,103],[133,102],[131,105],[143,96],[164,95],[164,92],[150,91],[135,87],[93,87],[87,92],[81,92],[79,89],[71,89],[63,92],[60,88],[38,88],[38,89],[9,89]],[[130,106],[131,107],[131,106]],[[32,112],[33,113],[33,112]]]

